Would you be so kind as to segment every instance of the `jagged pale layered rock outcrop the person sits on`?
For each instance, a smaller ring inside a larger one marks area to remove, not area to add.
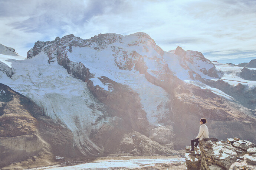
[[[199,143],[193,153],[186,153],[188,170],[240,170],[256,169],[254,153],[256,145],[237,137],[217,142],[215,138],[206,138]],[[186,151],[191,146],[186,146]]]

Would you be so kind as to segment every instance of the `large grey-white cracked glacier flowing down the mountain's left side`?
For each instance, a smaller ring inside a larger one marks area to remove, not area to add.
[[[73,78],[58,63],[47,61],[43,53],[31,59],[12,60],[15,74],[9,78],[0,72],[0,82],[32,99],[53,120],[63,122],[73,132],[74,145],[79,147],[86,142],[97,148],[88,135],[109,121],[104,111],[99,111],[105,106],[85,82]]]

